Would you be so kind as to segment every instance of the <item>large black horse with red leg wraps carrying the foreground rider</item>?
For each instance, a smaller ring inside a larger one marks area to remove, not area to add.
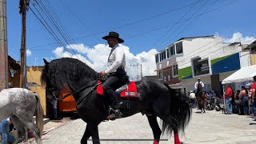
[[[70,90],[77,102],[78,114],[87,123],[81,143],[87,143],[92,137],[93,143],[100,143],[98,125],[106,119],[108,107],[105,98],[99,96],[93,83],[97,73],[90,66],[74,58],[60,58],[50,63],[44,59],[41,82],[46,87],[56,90]],[[82,87],[88,86],[83,90]],[[163,133],[171,134],[174,130],[174,142],[180,143],[178,131],[184,132],[190,122],[191,109],[185,95],[170,89],[162,82],[145,80],[136,82],[138,98],[120,99],[122,118],[133,114],[146,114],[154,134],[154,143],[158,143]],[[81,90],[82,89],[82,90]],[[162,130],[157,117],[162,119]]]

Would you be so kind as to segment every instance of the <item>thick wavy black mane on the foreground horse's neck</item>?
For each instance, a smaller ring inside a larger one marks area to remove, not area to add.
[[[47,87],[57,86],[58,90],[64,90],[68,86],[70,90],[78,90],[96,79],[96,71],[78,59],[59,58],[45,63],[41,82]]]

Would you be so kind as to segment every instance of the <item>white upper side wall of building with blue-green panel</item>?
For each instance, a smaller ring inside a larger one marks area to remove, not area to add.
[[[179,42],[183,43],[183,55],[177,58],[178,68],[191,66],[191,59],[221,58],[229,54],[235,54],[242,50],[242,46],[225,46],[222,38],[218,36],[205,38],[187,38]],[[210,64],[209,64],[210,65]]]

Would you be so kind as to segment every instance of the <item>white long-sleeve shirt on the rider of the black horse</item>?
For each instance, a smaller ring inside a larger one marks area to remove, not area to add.
[[[115,72],[119,66],[126,65],[125,53],[119,45],[114,46],[111,49],[110,56],[107,60],[107,68],[105,70],[106,74]]]

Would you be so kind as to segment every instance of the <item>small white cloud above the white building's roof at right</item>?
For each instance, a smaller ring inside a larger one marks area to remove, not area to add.
[[[242,37],[241,33],[234,33],[232,38],[222,38],[223,42],[232,43],[232,42],[241,42],[242,44],[250,44],[255,39],[252,36]]]

